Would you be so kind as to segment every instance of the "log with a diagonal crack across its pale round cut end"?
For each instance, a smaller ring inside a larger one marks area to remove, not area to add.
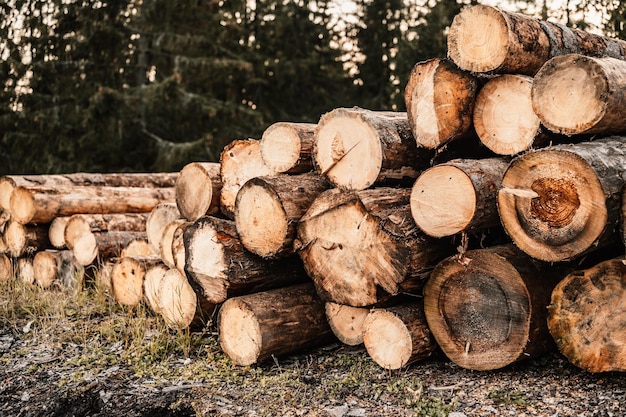
[[[315,132],[316,170],[342,189],[412,182],[433,156],[418,148],[405,112],[338,108]]]

